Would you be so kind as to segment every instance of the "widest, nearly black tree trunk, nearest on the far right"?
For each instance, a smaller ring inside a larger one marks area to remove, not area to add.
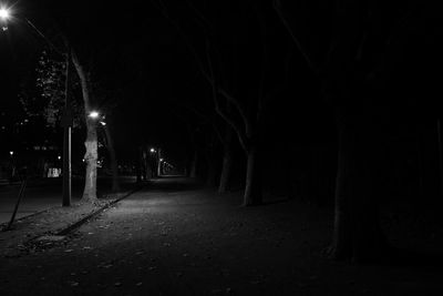
[[[368,262],[385,251],[378,214],[373,124],[359,114],[338,115],[339,155],[331,256]],[[378,141],[379,142],[379,141]]]

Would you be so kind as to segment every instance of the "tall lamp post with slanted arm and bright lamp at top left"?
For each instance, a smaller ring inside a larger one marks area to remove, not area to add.
[[[3,31],[8,30],[7,22],[11,19],[11,11],[9,8],[0,4],[0,23],[1,29]],[[31,27],[47,43],[48,45],[54,50],[56,53],[65,58],[65,105],[63,111],[63,116],[61,121],[61,125],[63,126],[63,206],[71,205],[71,195],[72,195],[72,183],[71,183],[71,127],[73,121],[73,114],[71,109],[71,102],[69,98],[69,80],[70,80],[70,50],[69,44],[66,42],[66,51],[68,53],[61,52],[55,45],[33,24],[28,18],[22,18],[29,27]]]

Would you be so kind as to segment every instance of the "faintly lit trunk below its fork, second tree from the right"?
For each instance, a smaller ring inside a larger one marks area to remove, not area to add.
[[[259,150],[251,146],[247,151],[246,187],[244,195],[244,206],[260,205],[262,203],[261,193],[261,170],[259,162]]]

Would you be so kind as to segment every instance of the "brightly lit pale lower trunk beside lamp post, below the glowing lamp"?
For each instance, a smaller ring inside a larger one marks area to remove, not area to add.
[[[84,146],[86,152],[84,161],[86,162],[86,175],[84,182],[84,191],[82,200],[85,202],[94,202],[96,197],[96,176],[97,176],[97,133],[96,123],[92,119],[86,119],[86,141]]]

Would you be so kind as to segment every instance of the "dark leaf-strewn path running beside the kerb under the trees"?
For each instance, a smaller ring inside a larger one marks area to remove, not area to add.
[[[331,215],[154,182],[58,246],[0,261],[0,295],[443,295],[426,268],[321,257]]]

